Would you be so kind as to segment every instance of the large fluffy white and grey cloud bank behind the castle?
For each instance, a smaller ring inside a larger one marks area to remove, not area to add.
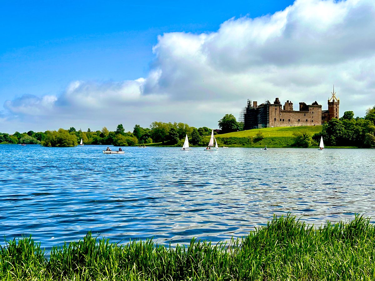
[[[128,129],[155,120],[217,127],[247,99],[317,100],[326,109],[335,84],[341,114],[363,116],[375,105],[374,30],[373,0],[297,0],[273,15],[228,19],[213,33],[160,35],[146,78],[75,81],[58,96],[23,96],[5,109],[92,127],[109,120]]]

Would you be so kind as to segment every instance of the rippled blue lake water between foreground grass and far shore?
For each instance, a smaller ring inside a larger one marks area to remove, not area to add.
[[[287,212],[319,226],[375,219],[375,149],[106,147],[0,145],[0,244],[32,235],[48,251],[89,230],[219,242]]]

